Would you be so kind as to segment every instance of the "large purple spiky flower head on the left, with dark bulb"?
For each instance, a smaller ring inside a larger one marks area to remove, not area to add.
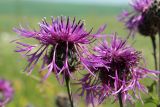
[[[16,42],[16,52],[23,53],[29,64],[25,71],[31,73],[35,65],[42,58],[43,64],[40,71],[48,69],[44,79],[51,72],[59,75],[72,76],[72,72],[80,63],[81,51],[85,49],[86,44],[90,44],[95,40],[104,29],[101,27],[97,33],[91,34],[92,29],[88,32],[84,27],[84,22],[79,20],[76,22],[74,18],[71,22],[69,17],[52,17],[49,24],[44,18],[39,23],[40,30],[28,30],[24,28],[14,29],[16,33],[24,38],[35,39],[39,43],[29,45],[26,43]],[[64,79],[64,78],[63,78]]]

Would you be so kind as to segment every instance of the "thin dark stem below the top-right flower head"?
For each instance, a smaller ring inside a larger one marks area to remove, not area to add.
[[[158,65],[157,65],[156,38],[155,38],[155,36],[151,36],[151,40],[152,40],[152,46],[153,46],[154,66],[155,66],[155,70],[157,70]]]

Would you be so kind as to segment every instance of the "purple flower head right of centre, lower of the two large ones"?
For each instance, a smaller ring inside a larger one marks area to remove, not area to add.
[[[81,60],[95,76],[91,73],[84,75],[78,82],[81,85],[78,92],[93,106],[95,102],[101,104],[113,96],[123,107],[127,100],[141,100],[140,91],[147,93],[147,89],[140,81],[157,79],[159,72],[146,69],[141,52],[127,45],[127,40],[118,38],[116,34],[109,38],[111,42],[104,40],[94,47],[93,52],[84,52]]]

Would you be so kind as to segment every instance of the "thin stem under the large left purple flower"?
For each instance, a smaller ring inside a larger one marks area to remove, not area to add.
[[[72,99],[72,91],[71,91],[71,87],[70,87],[70,78],[69,78],[69,76],[65,77],[65,81],[66,81],[66,87],[67,87],[67,92],[68,92],[68,97],[69,97],[69,101],[70,101],[71,107],[74,107],[74,105],[73,105],[73,99]]]

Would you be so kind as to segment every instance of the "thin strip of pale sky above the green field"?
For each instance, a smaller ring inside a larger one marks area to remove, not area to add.
[[[87,3],[87,4],[128,4],[131,0],[32,0],[65,3]]]

